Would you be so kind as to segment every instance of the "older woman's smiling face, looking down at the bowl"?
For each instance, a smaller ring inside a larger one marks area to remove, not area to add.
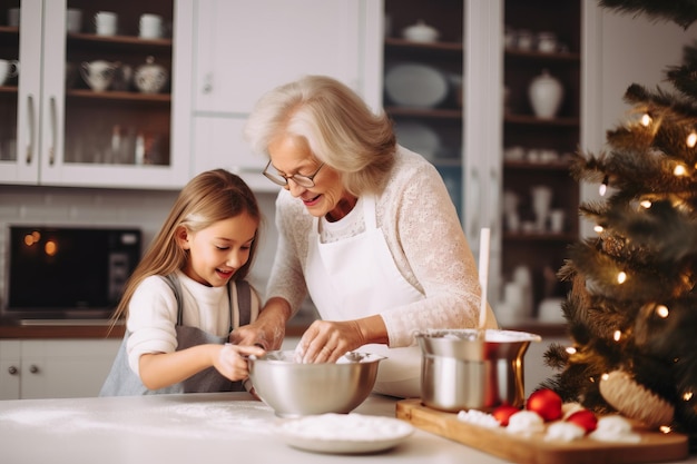
[[[284,176],[295,174],[311,176],[322,165],[310,151],[307,142],[303,138],[281,136],[268,146],[272,167]],[[291,195],[300,198],[307,211],[315,217],[325,216],[336,209],[342,197],[347,196],[336,170],[327,165],[314,178],[314,187],[301,187],[293,179],[288,179],[286,187]],[[343,215],[342,215],[343,216]]]

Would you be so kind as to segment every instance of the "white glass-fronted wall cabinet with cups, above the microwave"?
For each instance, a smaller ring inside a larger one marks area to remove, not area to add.
[[[19,27],[4,22],[20,8]],[[68,32],[68,9],[81,29]],[[189,177],[188,81],[192,2],[135,0],[0,0],[0,58],[20,62],[0,87],[0,182],[70,187],[178,188]],[[114,11],[114,36],[97,34],[94,16]],[[161,38],[140,39],[139,17],[164,18]],[[85,62],[105,60],[114,81],[92,90]],[[169,79],[158,92],[136,86],[151,60]],[[115,69],[115,70],[114,70]],[[8,124],[4,124],[8,121]]]

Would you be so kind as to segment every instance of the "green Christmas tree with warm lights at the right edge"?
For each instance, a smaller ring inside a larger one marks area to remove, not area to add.
[[[610,1],[687,28],[697,2]],[[580,213],[597,236],[575,244],[559,270],[573,345],[546,353],[559,374],[542,386],[597,413],[618,411],[697,443],[697,48],[666,70],[675,89],[629,86],[632,117],[571,174],[599,185]]]

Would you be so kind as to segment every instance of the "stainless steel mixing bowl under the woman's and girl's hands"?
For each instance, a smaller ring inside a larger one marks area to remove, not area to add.
[[[277,416],[348,413],[370,395],[383,356],[351,352],[337,363],[301,364],[293,351],[249,356],[256,394]]]

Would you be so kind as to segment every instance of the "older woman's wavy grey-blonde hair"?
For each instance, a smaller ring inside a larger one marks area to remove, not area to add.
[[[395,160],[392,120],[375,113],[350,87],[326,76],[305,76],[266,92],[245,125],[252,149],[268,156],[281,135],[307,141],[355,195],[381,191]]]

